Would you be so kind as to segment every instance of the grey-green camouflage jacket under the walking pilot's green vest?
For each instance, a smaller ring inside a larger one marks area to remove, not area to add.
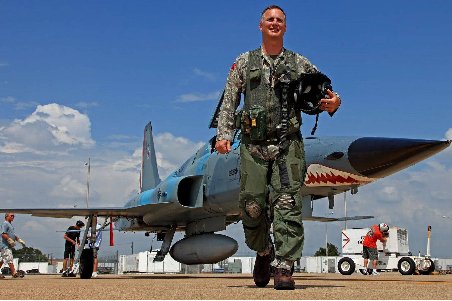
[[[282,47],[281,51],[279,52],[274,66],[270,63],[268,56],[262,50],[262,45],[260,46],[260,52],[262,55],[264,79],[268,85],[270,82],[270,71],[273,68],[276,68],[279,63],[284,62],[284,47]],[[242,53],[239,57],[237,57],[234,65],[232,65],[231,69],[229,70],[229,74],[226,80],[225,95],[223,97],[223,104],[220,111],[220,119],[218,120],[217,141],[232,141],[232,135],[235,128],[235,110],[240,105],[240,95],[242,91],[245,91],[248,56],[249,52]],[[299,54],[297,54],[297,66],[298,74],[304,74],[310,71],[318,71],[317,67],[312,65],[311,62],[306,59],[306,57]],[[277,82],[276,74],[273,75],[271,81],[272,88],[274,87],[275,82]],[[335,94],[339,97],[337,93]],[[330,116],[333,116],[334,112],[329,114]]]

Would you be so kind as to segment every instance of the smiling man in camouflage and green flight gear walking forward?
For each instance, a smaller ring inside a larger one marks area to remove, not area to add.
[[[281,8],[272,5],[264,9],[259,29],[262,46],[240,55],[229,70],[215,148],[218,153],[231,152],[235,111],[240,104],[240,94],[244,93],[243,114],[239,116],[242,129],[239,206],[246,244],[257,251],[254,282],[258,287],[266,286],[270,281],[271,265],[274,267],[274,288],[294,289],[290,270],[293,262],[301,258],[304,243],[300,190],[306,175],[306,162],[299,111],[289,109],[288,145],[281,153],[279,151],[282,93],[274,71],[279,64],[291,64],[292,79],[299,79],[302,74],[317,69],[305,57],[282,47],[286,15]],[[332,116],[340,99],[328,91],[330,99],[322,99],[320,109]],[[269,185],[273,187],[275,251],[268,234]]]

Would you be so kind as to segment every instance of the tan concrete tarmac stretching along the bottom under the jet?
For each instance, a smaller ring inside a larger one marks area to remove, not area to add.
[[[295,290],[254,286],[251,274],[99,275],[0,279],[0,300],[451,300],[452,275],[294,274]]]

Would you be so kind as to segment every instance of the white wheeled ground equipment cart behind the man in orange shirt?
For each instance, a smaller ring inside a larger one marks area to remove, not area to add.
[[[369,229],[346,229],[342,231],[342,256],[338,270],[343,275],[351,275],[355,269],[363,273],[363,241]],[[430,231],[428,226],[427,255],[413,256],[408,252],[408,232],[402,228],[389,228],[386,242],[377,241],[377,270],[399,271],[402,275],[412,275],[414,271],[429,274],[435,269],[430,259]],[[372,260],[367,263],[372,269]],[[364,274],[364,273],[363,273]]]

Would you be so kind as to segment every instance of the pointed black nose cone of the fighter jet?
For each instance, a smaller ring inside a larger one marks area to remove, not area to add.
[[[350,144],[348,161],[363,176],[383,178],[433,156],[450,143],[450,140],[364,137]]]

